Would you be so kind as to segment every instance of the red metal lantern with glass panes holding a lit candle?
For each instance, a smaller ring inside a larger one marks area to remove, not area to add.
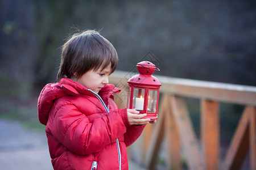
[[[128,80],[127,108],[136,109],[139,113],[147,113],[144,118],[156,120],[158,119],[159,88],[162,84],[151,74],[155,70],[160,70],[149,61],[139,62],[137,69],[139,74]]]

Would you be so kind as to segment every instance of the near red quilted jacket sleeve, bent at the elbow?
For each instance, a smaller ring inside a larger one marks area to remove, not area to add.
[[[52,122],[51,133],[72,152],[79,155],[92,154],[115,142],[126,131],[117,112],[101,115],[90,122],[75,105],[62,105]]]

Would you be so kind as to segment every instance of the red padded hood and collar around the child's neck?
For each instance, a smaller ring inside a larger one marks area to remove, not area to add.
[[[109,97],[114,100],[113,93],[119,93],[120,91],[113,84],[106,84],[98,92],[98,95],[107,103]],[[88,88],[68,78],[62,78],[59,83],[49,83],[44,86],[38,98],[38,118],[40,123],[47,124],[49,111],[56,99],[67,95],[79,96],[80,94],[94,96],[88,91]]]

